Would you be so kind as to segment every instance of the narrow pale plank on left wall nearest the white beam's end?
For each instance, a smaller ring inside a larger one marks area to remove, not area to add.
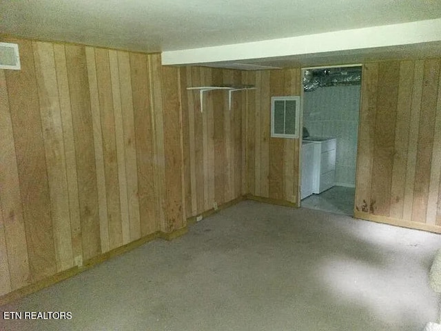
[[[158,230],[166,232],[166,188],[165,188],[165,146],[164,146],[164,121],[163,121],[163,94],[161,77],[161,55],[150,54],[150,91],[152,97],[152,117],[154,128],[154,157],[155,157],[155,190],[156,190],[156,219],[159,222]]]

